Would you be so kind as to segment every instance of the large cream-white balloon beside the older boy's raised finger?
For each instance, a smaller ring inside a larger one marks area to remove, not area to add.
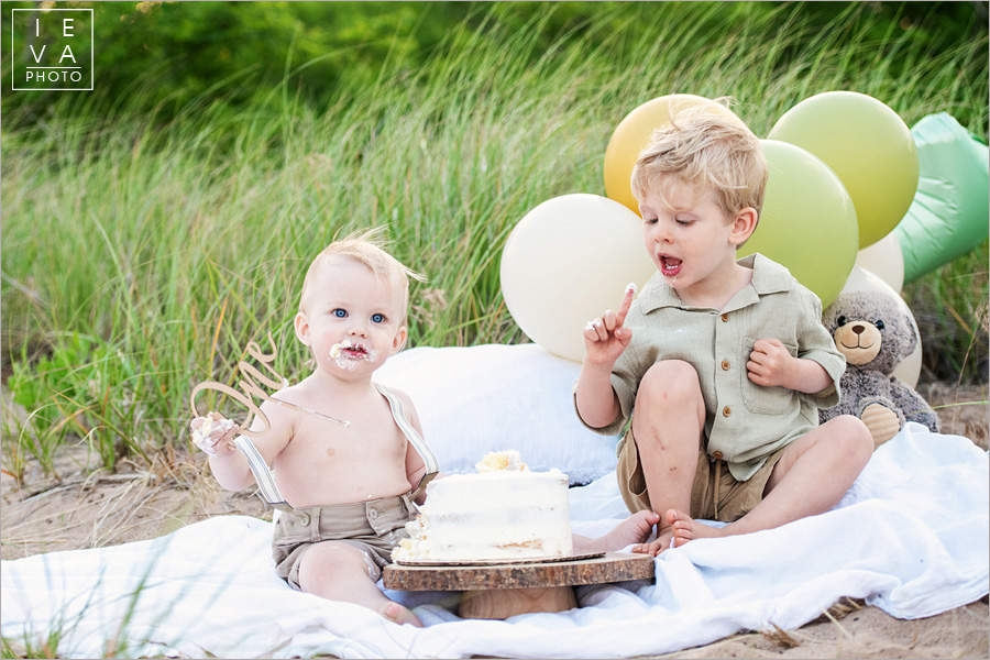
[[[522,217],[502,253],[502,296],[519,328],[551,353],[584,360],[584,326],[617,309],[626,286],[657,272],[642,220],[597,195],[549,199]]]

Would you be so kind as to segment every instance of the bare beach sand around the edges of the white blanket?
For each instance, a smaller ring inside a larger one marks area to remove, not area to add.
[[[987,402],[986,387],[933,385],[919,392],[933,406],[947,405],[937,408],[943,432],[988,448],[990,407],[954,405]],[[3,559],[154,538],[211,516],[271,519],[271,509],[256,495],[217,486],[201,452],[162,453],[151,464],[128,463],[113,474],[92,472],[87,463],[85,450],[77,448],[58,458],[61,480],[45,477],[36,465],[29,465],[20,484],[2,474]],[[900,620],[844,598],[796,630],[738,634],[660,657],[990,658],[990,612],[983,597],[938,616]]]

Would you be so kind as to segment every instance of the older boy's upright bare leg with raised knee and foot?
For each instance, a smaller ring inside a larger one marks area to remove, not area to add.
[[[694,367],[680,360],[651,366],[636,394],[632,436],[657,514],[690,510],[704,428],[705,402]],[[671,536],[670,522],[661,518],[657,540],[637,551],[657,554],[670,546]]]

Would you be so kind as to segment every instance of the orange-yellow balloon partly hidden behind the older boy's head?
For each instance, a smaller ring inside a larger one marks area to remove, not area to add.
[[[711,99],[694,96],[693,94],[671,94],[656,98],[639,106],[627,114],[615,128],[608,146],[605,148],[605,195],[614,199],[635,213],[639,215],[639,205],[632,197],[629,178],[632,176],[632,167],[639,152],[649,143],[650,135],[656,129],[670,123],[670,116],[692,108],[705,106],[712,112],[729,117],[744,124],[743,120],[723,106]],[[744,124],[745,125],[745,124]]]

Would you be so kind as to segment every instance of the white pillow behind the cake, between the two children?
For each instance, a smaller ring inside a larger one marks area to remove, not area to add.
[[[538,344],[416,348],[375,374],[406,392],[446,474],[473,472],[490,451],[519,450],[534,471],[557,468],[571,484],[615,470],[615,436],[578,421],[571,394],[581,365]]]

